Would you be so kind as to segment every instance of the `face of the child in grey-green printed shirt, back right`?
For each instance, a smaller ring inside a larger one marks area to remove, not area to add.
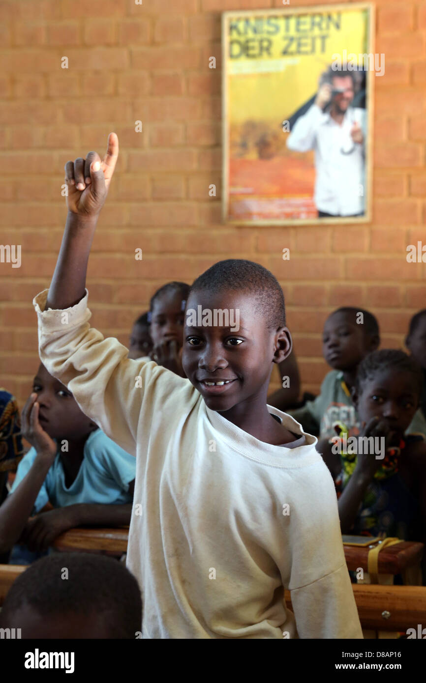
[[[356,316],[336,311],[325,320],[323,357],[334,370],[353,370],[375,348],[374,338],[363,324],[357,324]]]

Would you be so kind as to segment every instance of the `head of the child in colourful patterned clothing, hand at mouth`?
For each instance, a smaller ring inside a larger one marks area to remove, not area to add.
[[[361,423],[380,417],[402,438],[418,408],[422,387],[420,366],[403,351],[368,354],[358,366],[353,393]]]

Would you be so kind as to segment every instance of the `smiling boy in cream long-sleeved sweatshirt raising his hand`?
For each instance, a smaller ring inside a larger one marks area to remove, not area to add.
[[[144,638],[362,638],[317,440],[266,402],[273,364],[291,348],[274,276],[230,260],[196,280],[187,379],[128,359],[90,328],[86,266],[117,156],[111,133],[102,162],[90,152],[66,164],[64,240],[49,293],[34,303],[43,363],[137,456],[127,563],[142,589]],[[238,324],[212,324],[215,309],[234,322],[238,311]]]

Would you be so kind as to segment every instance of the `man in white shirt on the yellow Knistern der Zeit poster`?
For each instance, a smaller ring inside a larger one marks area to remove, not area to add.
[[[323,74],[315,102],[300,116],[287,147],[315,150],[318,217],[364,214],[365,109],[351,107],[354,72],[332,67]]]

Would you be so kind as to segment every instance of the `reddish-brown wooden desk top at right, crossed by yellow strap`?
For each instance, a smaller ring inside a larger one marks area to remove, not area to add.
[[[349,571],[362,568],[368,571],[369,546],[343,546]],[[401,541],[395,546],[386,546],[379,553],[379,574],[402,574],[407,569],[418,566],[423,556],[423,543]]]

